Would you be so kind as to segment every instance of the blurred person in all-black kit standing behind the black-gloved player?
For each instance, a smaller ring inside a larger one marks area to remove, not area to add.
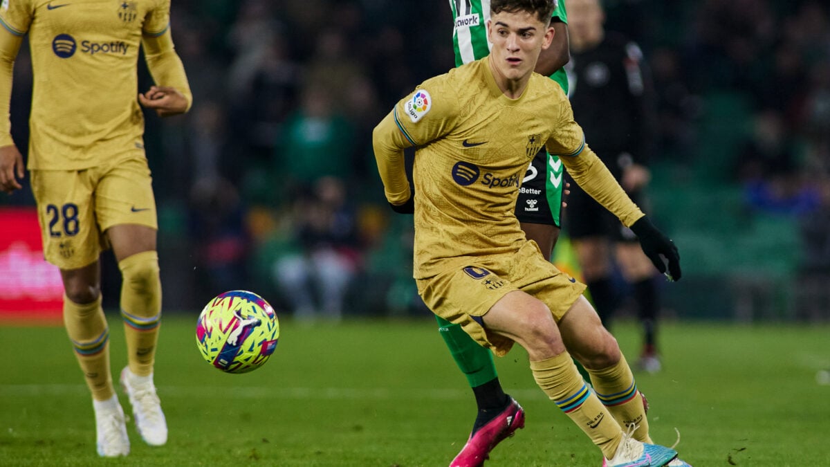
[[[572,0],[569,63],[570,101],[574,117],[594,150],[637,205],[644,194],[655,135],[654,97],[647,67],[637,44],[603,30],[598,0]],[[574,184],[572,184],[574,185]],[[637,236],[579,186],[568,200],[567,230],[583,278],[606,327],[615,307],[612,255],[631,284],[643,327],[638,366],[659,371],[655,325],[659,308],[652,263],[642,254]]]

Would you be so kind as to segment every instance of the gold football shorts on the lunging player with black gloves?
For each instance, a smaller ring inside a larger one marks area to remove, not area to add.
[[[585,290],[583,283],[545,260],[533,242],[525,243],[516,253],[476,258],[476,262],[416,279],[416,283],[432,312],[460,324],[476,342],[498,356],[510,351],[513,341],[488,331],[481,317],[501,297],[514,290],[529,293],[544,302],[559,322]]]

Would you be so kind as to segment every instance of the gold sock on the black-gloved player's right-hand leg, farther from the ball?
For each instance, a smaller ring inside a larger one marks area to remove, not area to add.
[[[642,396],[637,391],[637,384],[634,382],[634,375],[625,356],[620,356],[616,365],[608,366],[602,370],[590,370],[591,384],[593,391],[597,393],[599,400],[608,407],[611,415],[620,425],[637,425],[633,438],[644,443],[652,443],[648,435],[648,418],[646,409],[642,406]]]

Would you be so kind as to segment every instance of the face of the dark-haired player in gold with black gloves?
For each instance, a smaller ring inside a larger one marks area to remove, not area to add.
[[[493,47],[490,62],[496,79],[525,80],[533,72],[542,49],[550,46],[554,28],[530,12],[498,12],[487,23]]]

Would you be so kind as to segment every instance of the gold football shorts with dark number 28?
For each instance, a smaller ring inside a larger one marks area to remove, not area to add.
[[[85,170],[32,170],[32,193],[43,254],[61,269],[97,261],[113,225],[159,228],[144,152]]]

